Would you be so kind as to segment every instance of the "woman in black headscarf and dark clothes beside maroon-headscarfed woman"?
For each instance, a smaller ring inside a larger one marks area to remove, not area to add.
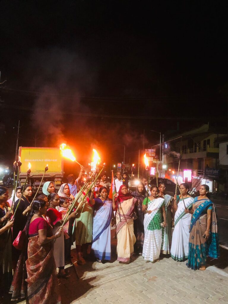
[[[133,191],[131,195],[137,199],[137,218],[134,220],[134,233],[136,237],[136,243],[134,245],[135,253],[139,255],[143,254],[143,242],[144,242],[144,213],[142,211],[143,200],[147,196],[147,190],[143,183],[139,183],[136,187],[136,191]]]

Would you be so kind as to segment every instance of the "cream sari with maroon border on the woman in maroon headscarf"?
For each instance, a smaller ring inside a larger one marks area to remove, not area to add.
[[[137,200],[133,197],[122,202],[118,202],[119,211],[116,211],[117,261],[129,262],[130,257],[134,253],[136,237],[134,235],[132,217],[136,202]]]

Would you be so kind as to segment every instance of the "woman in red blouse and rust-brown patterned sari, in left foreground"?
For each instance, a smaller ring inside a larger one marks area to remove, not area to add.
[[[60,304],[52,241],[60,238],[62,231],[53,235],[52,227],[42,217],[46,212],[45,200],[35,199],[26,223],[26,233],[29,234],[26,260],[28,300],[33,304]]]

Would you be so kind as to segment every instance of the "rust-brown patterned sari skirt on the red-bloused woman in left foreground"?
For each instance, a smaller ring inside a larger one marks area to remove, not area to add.
[[[61,304],[52,242],[40,245],[38,235],[30,237],[26,268],[29,304]]]

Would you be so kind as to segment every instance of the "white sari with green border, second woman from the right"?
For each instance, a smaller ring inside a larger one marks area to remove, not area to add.
[[[192,197],[187,197],[184,201],[186,208],[190,209],[194,199]],[[183,199],[179,199],[177,206],[178,209],[174,217],[174,231],[170,254],[175,261],[182,262],[188,259],[189,227],[192,215],[190,213],[185,213]]]

